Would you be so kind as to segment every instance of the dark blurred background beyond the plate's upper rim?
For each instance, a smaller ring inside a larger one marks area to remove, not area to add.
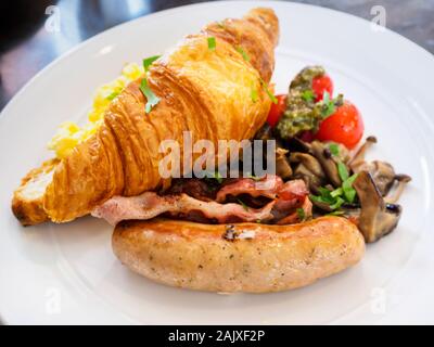
[[[89,37],[152,12],[196,2],[203,1],[1,0],[0,110],[42,67]],[[390,29],[434,53],[434,0],[294,2],[335,9],[368,20],[373,16],[372,7],[383,5]],[[56,15],[61,18],[59,23],[55,21]],[[46,22],[49,16],[51,22]]]

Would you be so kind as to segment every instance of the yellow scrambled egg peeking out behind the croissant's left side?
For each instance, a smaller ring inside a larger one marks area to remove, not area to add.
[[[86,141],[97,132],[110,102],[122,92],[124,87],[143,74],[143,66],[136,63],[127,64],[119,77],[97,89],[92,108],[88,113],[88,123],[82,127],[73,121],[63,123],[48,143],[48,149],[54,151],[58,158],[65,158],[78,143]]]

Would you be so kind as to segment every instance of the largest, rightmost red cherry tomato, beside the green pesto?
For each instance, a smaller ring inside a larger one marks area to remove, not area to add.
[[[363,119],[360,112],[349,101],[331,116],[321,121],[316,138],[320,141],[334,141],[354,149],[363,136]]]

